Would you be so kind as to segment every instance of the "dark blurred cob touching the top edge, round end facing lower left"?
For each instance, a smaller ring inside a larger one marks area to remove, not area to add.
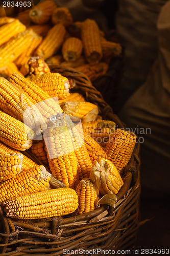
[[[50,20],[56,7],[56,4],[51,0],[41,2],[29,11],[30,19],[35,24],[45,24]]]

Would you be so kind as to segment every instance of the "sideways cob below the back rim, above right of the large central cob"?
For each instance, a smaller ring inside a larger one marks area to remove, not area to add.
[[[61,108],[65,114],[80,117],[82,121],[95,120],[99,114],[98,106],[87,101],[64,101]]]

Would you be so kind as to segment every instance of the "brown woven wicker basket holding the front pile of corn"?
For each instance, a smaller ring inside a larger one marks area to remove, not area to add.
[[[104,119],[112,120],[119,127],[124,127],[86,76],[71,68],[57,66],[50,66],[50,68],[52,72],[59,72],[69,79],[75,79],[74,91],[81,92],[89,101],[98,104]],[[71,250],[76,255],[91,255],[95,254],[97,249],[98,255],[104,254],[104,250],[110,250],[106,253],[112,255],[114,254],[112,250],[132,249],[137,238],[139,223],[140,161],[138,155],[139,144],[136,144],[126,167],[124,186],[117,194],[115,208],[102,205],[81,216],[19,222],[6,218],[0,207],[2,221],[0,255],[68,256],[72,255]]]

